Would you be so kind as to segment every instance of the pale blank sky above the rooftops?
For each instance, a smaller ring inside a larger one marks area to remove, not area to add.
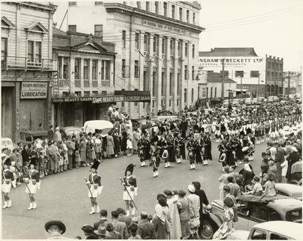
[[[284,71],[301,71],[303,56],[302,0],[200,0],[200,51],[215,47],[254,47],[258,56],[284,58]],[[66,1],[54,14],[57,27]],[[63,23],[66,28],[66,23]],[[63,30],[65,30],[63,28]]]

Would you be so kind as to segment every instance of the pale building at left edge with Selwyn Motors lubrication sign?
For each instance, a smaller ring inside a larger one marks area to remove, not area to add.
[[[1,129],[17,142],[21,130],[52,123],[52,16],[55,5],[1,2]]]

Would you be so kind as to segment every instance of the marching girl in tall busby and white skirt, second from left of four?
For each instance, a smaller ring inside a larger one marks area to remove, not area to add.
[[[30,198],[30,207],[28,210],[36,209],[36,199],[34,198],[34,194],[36,194],[37,188],[40,189],[40,178],[39,172],[34,169],[37,165],[36,157],[32,157],[30,160],[30,170],[28,170],[28,178],[25,178],[24,181],[27,183],[25,193],[28,194]]]

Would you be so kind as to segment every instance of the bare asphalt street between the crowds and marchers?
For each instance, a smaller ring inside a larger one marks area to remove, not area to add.
[[[134,175],[138,183],[138,196],[135,203],[138,207],[136,216],[145,210],[154,214],[156,195],[166,189],[176,188],[187,190],[187,185],[192,181],[200,181],[205,190],[209,202],[219,196],[218,178],[222,174],[222,165],[218,162],[218,143],[212,141],[213,161],[209,165],[196,165],[195,170],[189,170],[189,161],[180,164],[173,163],[170,168],[164,168],[164,162],[160,163],[159,176],[153,178],[152,168],[140,167],[137,155],[123,156],[116,159],[105,159],[98,168],[101,175],[101,183],[104,186],[98,204],[101,209],[106,209],[109,218],[110,211],[118,207],[125,208],[123,202],[123,187],[119,176],[123,176],[129,163],[134,163]],[[251,162],[255,174],[260,173],[261,152],[264,152],[266,144],[258,145]],[[242,166],[238,166],[239,172]],[[28,194],[25,194],[25,185],[22,184],[10,192],[12,207],[2,209],[2,238],[3,239],[45,239],[48,233],[44,230],[44,224],[48,220],[62,220],[67,231],[65,237],[84,238],[81,227],[93,225],[99,219],[98,214],[89,215],[90,199],[84,177],[90,174],[90,168],[69,170],[60,174],[47,176],[41,180],[41,190],[36,194],[37,209],[28,211]]]

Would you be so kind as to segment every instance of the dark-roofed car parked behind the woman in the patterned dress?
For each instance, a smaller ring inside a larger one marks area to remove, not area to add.
[[[242,195],[236,198],[238,207],[238,222],[236,229],[249,231],[260,222],[283,220],[302,223],[302,201],[283,195],[264,197],[254,195]],[[212,232],[216,231],[223,222],[223,202],[214,200],[211,203],[211,214],[216,216],[211,226]],[[211,216],[213,217],[213,216]],[[217,220],[220,220],[219,224]]]

